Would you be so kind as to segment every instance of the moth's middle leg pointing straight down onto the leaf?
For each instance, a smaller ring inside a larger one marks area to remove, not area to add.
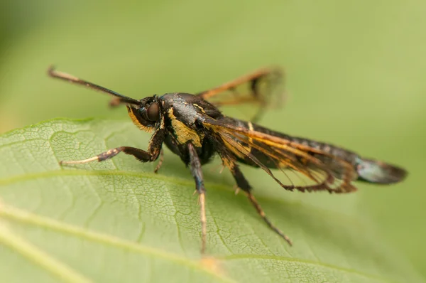
[[[204,188],[204,181],[202,177],[201,162],[197,155],[197,151],[194,146],[189,143],[188,151],[190,154],[190,169],[192,176],[195,179],[195,188],[197,189],[199,195],[200,203],[200,220],[201,220],[201,253],[204,253],[206,250],[206,238],[207,238],[207,220],[206,220],[206,204],[205,204],[205,193],[206,189]]]

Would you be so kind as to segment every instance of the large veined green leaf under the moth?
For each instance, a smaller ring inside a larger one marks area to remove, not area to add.
[[[158,174],[155,164],[124,155],[58,165],[116,146],[145,148],[148,138],[130,122],[67,119],[0,137],[2,282],[420,282],[357,216],[349,205],[356,194],[311,195],[320,207],[303,201],[307,194],[258,188],[268,216],[292,237],[289,247],[234,196],[229,175],[212,171],[215,162],[204,169],[209,256],[202,258],[195,186],[170,151]],[[249,179],[273,184],[259,170]]]

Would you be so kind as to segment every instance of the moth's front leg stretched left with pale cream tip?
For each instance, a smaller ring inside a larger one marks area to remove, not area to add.
[[[70,161],[60,161],[60,165],[64,164],[84,164],[92,161],[105,161],[107,159],[111,159],[120,152],[124,152],[124,154],[133,155],[136,159],[142,162],[149,162],[156,159],[158,154],[150,154],[147,151],[144,151],[142,149],[136,149],[136,147],[131,146],[120,146],[116,147],[115,149],[109,149],[105,152],[102,152],[102,154],[98,154],[97,156],[90,157],[88,159],[83,160],[70,160]]]

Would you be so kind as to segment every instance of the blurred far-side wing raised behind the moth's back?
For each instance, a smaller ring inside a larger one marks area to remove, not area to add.
[[[280,68],[259,69],[197,95],[225,114],[256,121],[264,110],[283,105],[284,73]]]

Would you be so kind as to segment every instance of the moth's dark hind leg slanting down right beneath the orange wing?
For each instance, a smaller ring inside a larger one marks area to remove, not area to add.
[[[285,235],[280,229],[276,228],[275,225],[273,225],[271,221],[266,217],[266,214],[261,208],[261,205],[258,203],[256,198],[251,194],[251,186],[249,182],[246,180],[243,173],[241,173],[239,167],[236,164],[234,164],[234,166],[231,168],[231,173],[232,173],[232,176],[234,176],[237,186],[239,186],[239,188],[241,188],[241,190],[243,190],[244,193],[246,193],[247,198],[249,198],[249,201],[254,206],[254,208],[256,208],[256,211],[258,212],[259,215],[261,215],[261,218],[263,219],[263,221],[265,221],[265,223],[269,226],[269,228],[271,228],[275,233],[280,235],[280,237],[282,237],[286,242],[288,242],[289,245],[293,245],[290,238],[287,235]]]

